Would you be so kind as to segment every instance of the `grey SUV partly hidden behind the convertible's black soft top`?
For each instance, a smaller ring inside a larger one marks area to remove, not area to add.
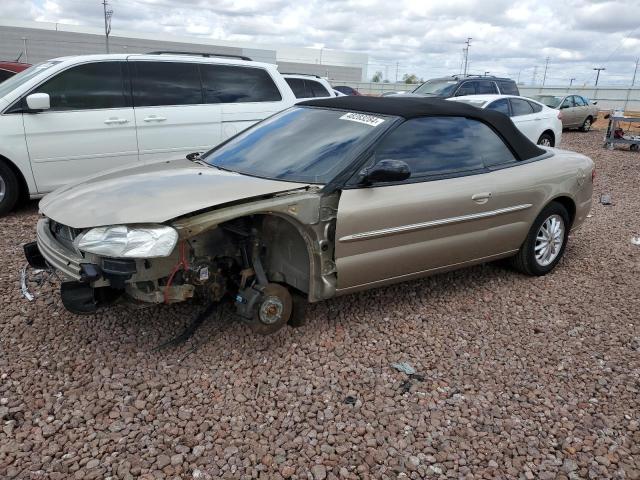
[[[463,95],[520,95],[516,82],[510,78],[493,76],[463,76],[432,78],[411,93],[399,93],[413,97],[461,97]]]

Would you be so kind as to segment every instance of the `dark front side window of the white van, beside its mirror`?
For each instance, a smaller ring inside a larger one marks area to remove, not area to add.
[[[51,111],[125,108],[123,62],[87,63],[72,67],[46,81],[31,93],[48,93]]]

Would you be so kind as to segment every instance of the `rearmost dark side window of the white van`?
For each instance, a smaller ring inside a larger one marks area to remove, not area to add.
[[[201,64],[205,103],[282,100],[271,75],[262,68]]]

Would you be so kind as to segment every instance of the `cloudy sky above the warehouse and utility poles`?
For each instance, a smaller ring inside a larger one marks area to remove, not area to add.
[[[369,76],[469,71],[531,83],[630,84],[640,57],[640,0],[110,0],[118,30],[367,53]],[[101,0],[0,0],[4,19],[100,27]],[[537,67],[537,69],[535,68]],[[640,83],[639,78],[636,85]]]

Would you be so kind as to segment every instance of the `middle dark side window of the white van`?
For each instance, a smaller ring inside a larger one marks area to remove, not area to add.
[[[136,107],[202,103],[198,64],[131,62],[131,65]]]

